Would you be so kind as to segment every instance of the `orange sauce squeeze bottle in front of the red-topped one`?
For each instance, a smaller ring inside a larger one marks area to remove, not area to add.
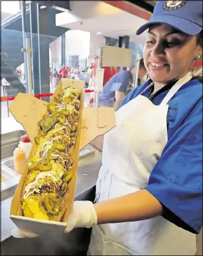
[[[22,174],[24,171],[26,164],[25,157],[25,150],[20,148],[20,145],[18,144],[18,147],[13,151],[14,170],[18,174]]]

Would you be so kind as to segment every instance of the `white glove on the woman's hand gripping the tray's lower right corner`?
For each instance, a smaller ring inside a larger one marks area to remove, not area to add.
[[[65,232],[70,232],[75,227],[93,227],[97,224],[97,213],[90,201],[75,201],[73,212],[67,221]]]

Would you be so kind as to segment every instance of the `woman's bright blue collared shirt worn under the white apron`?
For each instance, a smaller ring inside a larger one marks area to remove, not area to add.
[[[120,107],[143,92],[149,83],[130,92]],[[169,89],[166,85],[150,96],[152,88],[149,88],[141,95],[159,105]],[[168,142],[145,189],[162,203],[164,218],[199,233],[202,227],[202,83],[192,79],[168,105]]]

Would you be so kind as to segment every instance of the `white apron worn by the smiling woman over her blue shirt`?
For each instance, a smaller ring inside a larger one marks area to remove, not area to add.
[[[104,139],[96,202],[134,193],[148,185],[150,172],[168,140],[167,103],[191,77],[188,73],[180,79],[159,106],[139,95],[116,112],[116,127]],[[96,225],[88,250],[90,255],[194,255],[195,252],[195,234],[162,216]]]

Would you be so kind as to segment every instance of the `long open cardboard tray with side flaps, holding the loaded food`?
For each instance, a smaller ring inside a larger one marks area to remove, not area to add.
[[[25,170],[22,173],[21,180],[17,186],[15,195],[11,203],[10,218],[15,225],[24,231],[34,232],[36,234],[49,233],[52,234],[63,232],[66,226],[65,221],[70,216],[73,208],[75,183],[77,178],[77,167],[79,150],[84,148],[88,143],[95,139],[98,135],[105,134],[112,129],[115,124],[115,111],[113,108],[101,107],[101,108],[83,108],[84,102],[84,81],[77,81],[72,79],[62,79],[59,81],[54,95],[50,100],[50,103],[54,102],[54,98],[61,89],[67,86],[77,88],[81,93],[81,105],[79,108],[80,121],[78,125],[78,135],[74,149],[74,164],[73,164],[73,177],[70,181],[69,193],[66,195],[66,207],[64,208],[64,214],[60,220],[57,221],[45,221],[34,218],[27,218],[22,216],[22,210],[20,205],[20,196],[22,193],[25,176],[28,172],[28,164],[26,164]],[[36,145],[34,138],[39,130],[38,122],[46,112],[47,102],[36,99],[30,94],[18,93],[15,100],[10,106],[12,115],[18,122],[25,128],[26,133],[29,135],[32,141],[31,152],[35,151]],[[31,161],[32,154],[30,154],[27,163]]]

